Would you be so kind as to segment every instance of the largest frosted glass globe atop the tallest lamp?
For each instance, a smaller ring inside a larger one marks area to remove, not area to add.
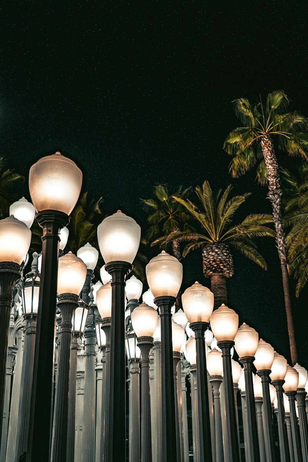
[[[36,212],[58,210],[70,215],[81,185],[81,170],[60,152],[42,157],[30,168],[29,189]]]

